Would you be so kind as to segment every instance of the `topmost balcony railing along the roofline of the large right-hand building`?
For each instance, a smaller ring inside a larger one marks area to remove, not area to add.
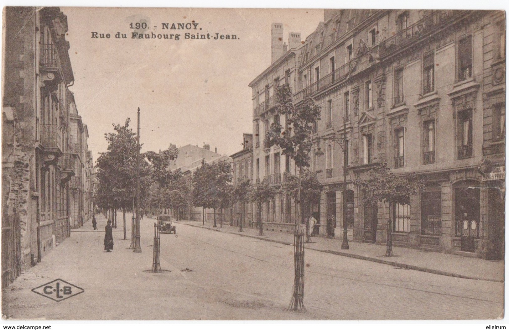
[[[408,28],[382,41],[379,44],[379,56],[387,56],[393,51],[400,50],[404,46],[432,34],[438,28],[444,28],[445,24],[453,21],[464,12],[463,10],[433,11],[430,15],[408,26]]]

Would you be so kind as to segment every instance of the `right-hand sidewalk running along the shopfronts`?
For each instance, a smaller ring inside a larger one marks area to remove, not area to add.
[[[212,224],[201,222],[181,221],[188,226],[201,227],[209,230],[253,237],[282,244],[293,244],[293,234],[265,231],[264,236],[258,236],[258,229],[243,228],[239,233],[238,227],[223,224],[222,228],[212,228]],[[359,243],[349,241],[349,250],[341,250],[341,238],[312,237],[313,243],[305,244],[306,249],[363,259],[394,267],[426,271],[444,276],[453,276],[471,280],[504,282],[504,261],[491,261],[479,258],[469,258],[440,252],[422,251],[417,249],[393,246],[394,257],[385,257],[385,245]]]

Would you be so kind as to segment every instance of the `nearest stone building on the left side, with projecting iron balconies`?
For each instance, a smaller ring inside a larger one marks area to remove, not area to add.
[[[4,9],[2,284],[70,235],[74,76],[58,7]]]

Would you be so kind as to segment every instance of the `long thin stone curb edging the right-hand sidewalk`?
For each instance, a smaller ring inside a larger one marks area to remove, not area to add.
[[[256,239],[260,239],[260,240],[264,240],[264,241],[268,241],[268,242],[272,242],[272,243],[279,243],[279,244],[284,244],[284,245],[293,245],[293,243],[283,242],[283,241],[279,241],[279,240],[276,240],[276,239],[270,239],[270,238],[265,238],[265,237],[251,236],[251,235],[234,233],[234,232],[223,232],[223,231],[220,231],[218,229],[207,228],[207,227],[202,227],[202,226],[196,226],[196,225],[191,225],[191,224],[182,224],[182,225],[186,225],[186,226],[190,226],[190,227],[196,227],[196,228],[202,228],[202,229],[207,229],[207,230],[212,230],[212,231],[217,231],[217,232],[221,232],[221,233],[233,234],[233,235],[238,235],[238,236],[243,236],[243,237],[256,238]],[[466,280],[478,280],[478,281],[489,281],[489,282],[504,283],[503,280],[495,280],[495,279],[486,279],[486,278],[480,278],[480,277],[466,276],[466,275],[462,275],[462,274],[455,273],[455,272],[438,270],[438,269],[432,269],[432,268],[426,268],[426,267],[420,267],[420,266],[414,266],[414,265],[409,265],[409,264],[405,264],[405,263],[401,263],[401,262],[382,260],[382,259],[373,258],[373,257],[365,257],[365,256],[356,255],[356,254],[352,254],[352,253],[338,252],[338,251],[332,251],[332,250],[321,250],[321,249],[309,248],[309,247],[306,247],[306,249],[313,250],[313,251],[318,251],[318,252],[323,252],[323,253],[329,253],[329,254],[333,254],[333,255],[337,255],[337,256],[342,256],[342,257],[349,257],[349,258],[354,258],[354,259],[361,259],[361,260],[366,260],[366,261],[377,262],[377,263],[381,263],[381,264],[385,264],[385,265],[390,265],[390,266],[394,266],[394,267],[400,267],[400,268],[412,269],[412,270],[417,270],[417,271],[429,272],[429,273],[436,274],[436,275],[449,276],[449,277],[455,277],[455,278],[466,279]]]

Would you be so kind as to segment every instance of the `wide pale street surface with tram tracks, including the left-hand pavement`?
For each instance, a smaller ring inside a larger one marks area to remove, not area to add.
[[[128,215],[129,216],[129,215]],[[129,218],[129,217],[128,217]],[[119,224],[121,216],[119,215]],[[103,228],[104,218],[98,218]],[[3,313],[19,319],[494,319],[503,316],[503,284],[306,250],[306,313],[287,311],[293,247],[177,225],[161,235],[161,267],[152,263],[152,219],[142,223],[143,253],[90,224],[71,233],[4,292]],[[88,226],[88,227],[87,227]],[[120,229],[120,226],[119,226]],[[130,233],[128,233],[130,237]],[[182,271],[185,269],[188,271]],[[192,271],[190,271],[192,270]],[[30,289],[62,278],[85,289],[55,303]]]

